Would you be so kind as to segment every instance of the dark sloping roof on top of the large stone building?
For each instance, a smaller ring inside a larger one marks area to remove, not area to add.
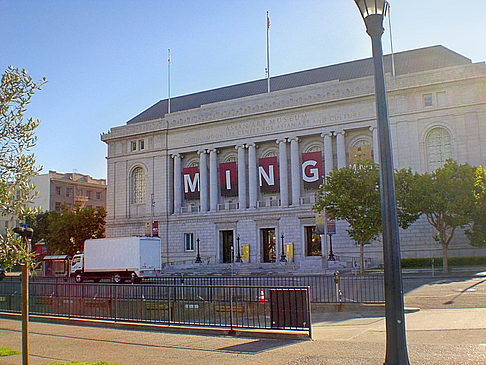
[[[395,72],[397,75],[471,63],[469,58],[466,58],[443,46],[432,46],[405,52],[398,52],[395,53],[394,58]],[[390,55],[385,55],[383,63],[385,66],[385,72],[391,72]],[[351,80],[371,76],[372,74],[373,60],[372,58],[365,58],[357,61],[339,63],[337,65],[319,67],[311,70],[271,77],[270,85],[272,91],[277,91],[331,80]],[[178,112],[181,110],[198,108],[203,104],[263,94],[266,93],[266,91],[267,80],[260,79],[171,98],[170,110],[171,112]],[[164,99],[132,118],[127,123],[136,123],[162,118],[166,113],[167,99]]]

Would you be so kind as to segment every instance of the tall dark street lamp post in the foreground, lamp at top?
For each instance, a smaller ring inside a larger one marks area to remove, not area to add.
[[[383,18],[386,14],[388,3],[385,0],[355,0],[355,3],[363,17],[366,32],[371,37],[373,49],[385,274],[385,365],[408,365],[400,265],[400,239],[383,70],[383,50],[381,47],[381,36],[384,31]]]

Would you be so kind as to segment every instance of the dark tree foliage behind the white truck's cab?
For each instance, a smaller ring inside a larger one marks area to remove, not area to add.
[[[72,256],[83,251],[85,240],[105,236],[105,217],[102,207],[75,206],[73,210],[63,207],[60,212],[39,213],[29,217],[28,222],[34,228],[34,239],[44,240],[49,253]]]

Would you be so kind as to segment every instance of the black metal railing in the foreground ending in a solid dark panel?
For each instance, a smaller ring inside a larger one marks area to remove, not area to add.
[[[311,335],[308,287],[76,284],[34,279],[29,294],[31,314]],[[20,280],[1,281],[0,311],[20,312],[20,304]]]

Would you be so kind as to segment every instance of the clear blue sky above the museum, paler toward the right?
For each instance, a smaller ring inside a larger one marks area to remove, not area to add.
[[[486,60],[486,1],[390,0],[395,51],[442,44]],[[172,96],[371,55],[353,0],[0,0],[0,66],[48,83],[29,115],[44,171],[106,177],[100,134]],[[388,30],[384,50],[389,52]]]

